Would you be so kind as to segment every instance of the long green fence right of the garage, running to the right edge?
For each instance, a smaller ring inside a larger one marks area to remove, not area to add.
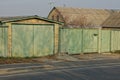
[[[120,51],[120,30],[62,28],[59,43],[60,53]]]

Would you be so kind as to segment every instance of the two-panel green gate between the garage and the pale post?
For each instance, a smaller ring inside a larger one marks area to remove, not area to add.
[[[98,29],[60,29],[60,51],[69,54],[98,52]]]

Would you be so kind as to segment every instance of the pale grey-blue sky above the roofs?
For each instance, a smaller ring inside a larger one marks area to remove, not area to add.
[[[47,17],[54,6],[120,9],[120,0],[0,0],[0,16]]]

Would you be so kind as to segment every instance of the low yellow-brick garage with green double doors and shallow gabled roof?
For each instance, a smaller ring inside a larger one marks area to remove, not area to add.
[[[61,23],[35,16],[0,18],[1,57],[39,57],[57,53]]]

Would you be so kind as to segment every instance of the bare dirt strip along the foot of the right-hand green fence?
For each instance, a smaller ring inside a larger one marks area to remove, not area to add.
[[[78,60],[103,60],[103,59],[120,59],[120,53],[91,53],[79,55],[60,54],[55,57],[58,60],[78,61]]]

